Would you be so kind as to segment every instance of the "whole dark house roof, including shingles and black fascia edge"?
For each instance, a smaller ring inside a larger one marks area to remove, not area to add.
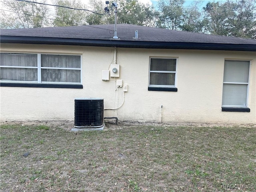
[[[138,30],[138,38],[134,38]],[[256,40],[118,24],[1,30],[1,42],[256,51]]]

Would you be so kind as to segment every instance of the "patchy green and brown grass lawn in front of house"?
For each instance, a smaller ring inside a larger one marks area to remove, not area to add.
[[[0,190],[256,191],[255,126],[70,129],[2,125]]]

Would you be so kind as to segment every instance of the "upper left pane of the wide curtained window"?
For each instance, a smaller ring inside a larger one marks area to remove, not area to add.
[[[37,54],[1,53],[1,66],[37,67]]]

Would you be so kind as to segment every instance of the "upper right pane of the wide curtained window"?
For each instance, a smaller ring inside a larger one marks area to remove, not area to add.
[[[81,68],[81,56],[41,54],[41,66],[59,68]]]

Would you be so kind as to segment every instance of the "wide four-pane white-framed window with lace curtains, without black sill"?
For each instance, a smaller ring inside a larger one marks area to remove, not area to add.
[[[0,53],[1,82],[81,84],[81,56]]]

